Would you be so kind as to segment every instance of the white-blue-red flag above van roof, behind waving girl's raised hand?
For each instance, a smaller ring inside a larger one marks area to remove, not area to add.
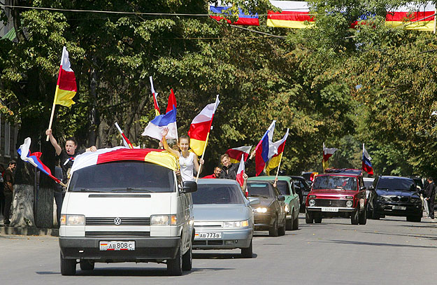
[[[178,139],[178,126],[176,125],[176,98],[173,89],[169,95],[169,104],[165,115],[156,116],[145,127],[143,136],[149,136],[154,139],[162,139],[164,128],[169,128],[166,139]]]

